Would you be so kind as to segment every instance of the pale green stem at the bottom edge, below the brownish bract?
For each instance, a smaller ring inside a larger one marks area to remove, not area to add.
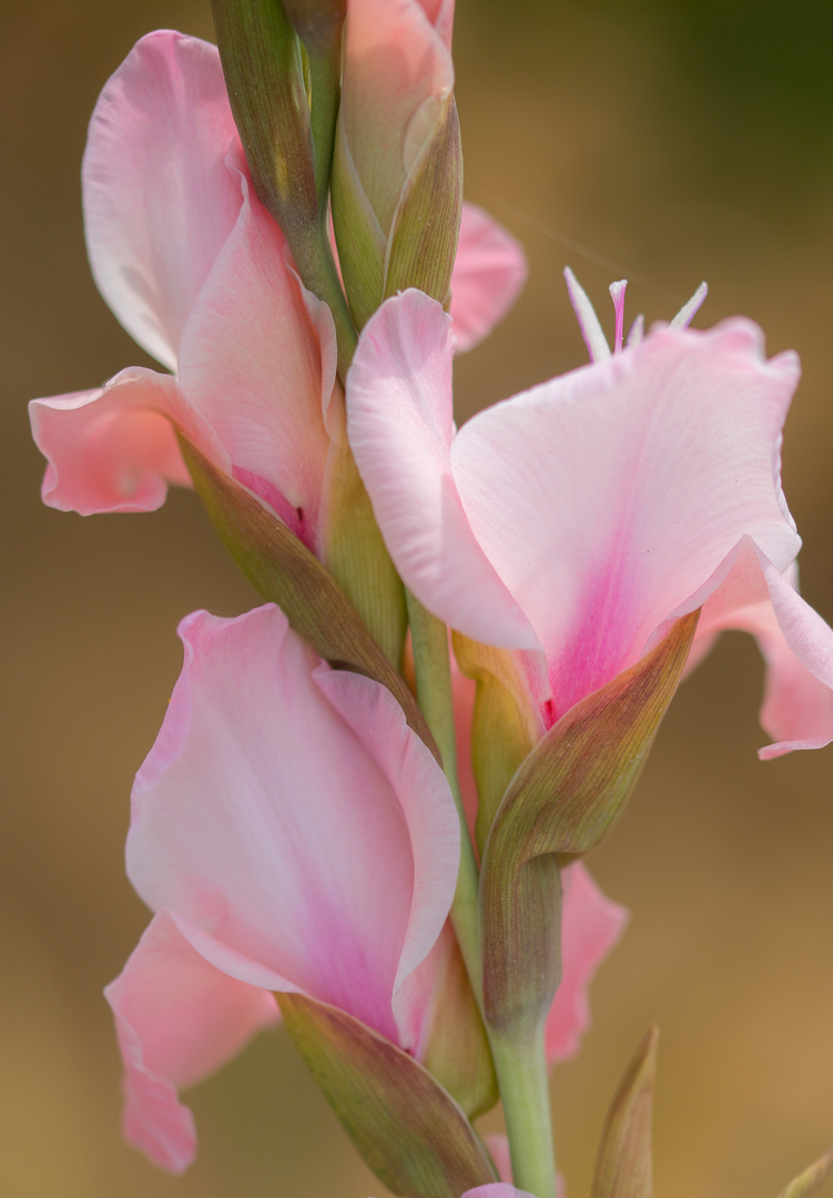
[[[543,1025],[529,1043],[489,1033],[506,1132],[512,1179],[536,1198],[556,1198],[555,1146]]]

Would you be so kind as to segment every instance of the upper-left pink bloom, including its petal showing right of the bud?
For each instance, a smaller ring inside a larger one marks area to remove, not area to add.
[[[96,105],[83,182],[98,288],[175,374],[132,368],[34,400],[44,501],[82,514],[159,507],[168,484],[189,484],[176,424],[326,556],[344,424],[333,323],[254,195],[213,46],[158,31],[134,47]],[[452,310],[467,347],[514,300],[523,254],[469,210],[458,271]]]

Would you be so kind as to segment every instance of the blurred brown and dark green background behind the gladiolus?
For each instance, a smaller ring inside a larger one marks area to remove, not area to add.
[[[188,494],[149,516],[42,508],[25,400],[146,362],[89,277],[78,171],[101,85],[156,25],[210,37],[207,0],[4,14],[0,1193],[381,1198],[280,1031],[192,1094],[185,1178],[120,1142],[101,988],[146,921],[122,872],[131,781],[180,668],[176,621],[254,595]],[[627,307],[648,320],[706,278],[700,325],[743,311],[802,356],[785,488],[804,592],[833,618],[829,5],[458,0],[455,58],[467,194],[531,262],[515,311],[459,364],[460,415],[585,361],[565,264],[608,327],[612,278],[644,280]],[[774,1198],[833,1143],[833,749],[760,764],[760,685],[754,645],[724,637],[593,860],[633,920],[553,1082],[571,1198],[653,1019],[660,1198]]]

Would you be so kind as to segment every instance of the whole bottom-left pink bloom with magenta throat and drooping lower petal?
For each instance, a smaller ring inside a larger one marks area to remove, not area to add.
[[[419,1057],[459,863],[448,783],[387,690],[322,664],[274,606],[180,633],[127,840],[155,915],[107,990],[126,1137],[174,1172],[195,1150],[177,1088],[274,1022],[273,992]]]

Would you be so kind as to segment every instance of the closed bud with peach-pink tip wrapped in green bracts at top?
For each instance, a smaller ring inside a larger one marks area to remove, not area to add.
[[[463,201],[449,12],[350,4],[332,212],[360,327],[409,286],[448,300]]]

